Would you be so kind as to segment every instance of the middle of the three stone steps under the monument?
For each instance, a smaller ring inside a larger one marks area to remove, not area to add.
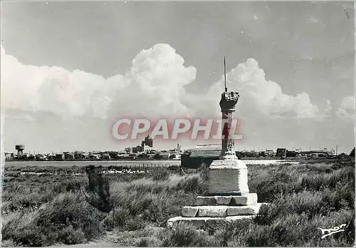
[[[257,215],[263,203],[248,206],[186,206],[182,207],[183,217],[227,217]]]

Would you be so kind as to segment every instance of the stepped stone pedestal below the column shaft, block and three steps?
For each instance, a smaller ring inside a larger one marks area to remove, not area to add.
[[[236,156],[214,160],[209,167],[208,193],[197,197],[193,206],[182,207],[182,216],[168,219],[167,226],[185,222],[204,228],[218,222],[251,219],[261,205],[257,194],[248,190],[247,167],[242,160]]]

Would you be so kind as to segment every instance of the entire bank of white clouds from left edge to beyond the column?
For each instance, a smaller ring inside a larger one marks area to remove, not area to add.
[[[58,115],[117,118],[120,115],[219,114],[224,76],[204,95],[193,95],[184,86],[194,81],[196,69],[171,46],[157,44],[132,60],[125,75],[104,78],[85,71],[52,66],[30,66],[5,54],[1,46],[1,99],[3,108],[42,110]],[[281,86],[267,81],[258,62],[249,58],[227,73],[229,91],[239,91],[238,110],[244,115],[315,118],[316,105],[307,93],[286,95]]]

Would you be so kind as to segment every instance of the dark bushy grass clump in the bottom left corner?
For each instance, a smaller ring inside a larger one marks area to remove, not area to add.
[[[100,212],[83,197],[64,193],[36,211],[13,215],[2,227],[2,237],[20,246],[76,244],[95,239],[103,232],[100,219]]]

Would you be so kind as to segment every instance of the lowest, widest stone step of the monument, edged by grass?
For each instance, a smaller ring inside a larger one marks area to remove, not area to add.
[[[173,217],[168,219],[167,227],[177,227],[179,223],[192,224],[196,228],[204,228],[208,225],[219,224],[221,222],[234,222],[241,219],[253,219],[256,215],[241,215],[241,216],[228,216],[228,217]]]

